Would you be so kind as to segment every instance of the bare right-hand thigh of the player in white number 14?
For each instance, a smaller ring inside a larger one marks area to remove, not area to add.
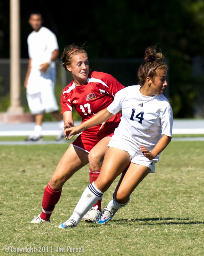
[[[150,173],[150,169],[146,166],[130,163],[127,170],[121,176],[121,179],[114,194],[118,203],[124,198],[129,198],[139,183]]]

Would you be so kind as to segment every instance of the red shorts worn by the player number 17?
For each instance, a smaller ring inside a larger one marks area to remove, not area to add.
[[[77,139],[71,144],[77,148],[80,148],[86,152],[90,150],[103,138],[112,137],[115,128],[118,127],[120,122],[106,123],[104,127],[99,130],[101,125],[96,125],[85,131],[83,131]]]

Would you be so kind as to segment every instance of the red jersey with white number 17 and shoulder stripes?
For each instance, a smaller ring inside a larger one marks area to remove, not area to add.
[[[61,94],[62,112],[72,111],[73,107],[82,117],[82,122],[111,104],[116,92],[124,88],[112,75],[90,71],[88,78],[81,86],[75,86],[74,81],[68,84]],[[120,115],[108,122],[120,121]]]

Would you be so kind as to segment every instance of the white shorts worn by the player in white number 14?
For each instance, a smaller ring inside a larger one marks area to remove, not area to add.
[[[114,134],[115,135],[115,134]],[[146,166],[150,168],[150,173],[155,172],[155,162],[159,161],[159,158],[156,158],[154,160],[149,160],[146,158],[142,152],[140,152],[138,149],[133,148],[131,144],[128,143],[123,138],[117,139],[116,136],[112,136],[111,140],[109,141],[108,147],[113,147],[113,148],[119,148],[122,149],[126,152],[128,152],[130,156],[130,161],[134,164],[139,164]]]

